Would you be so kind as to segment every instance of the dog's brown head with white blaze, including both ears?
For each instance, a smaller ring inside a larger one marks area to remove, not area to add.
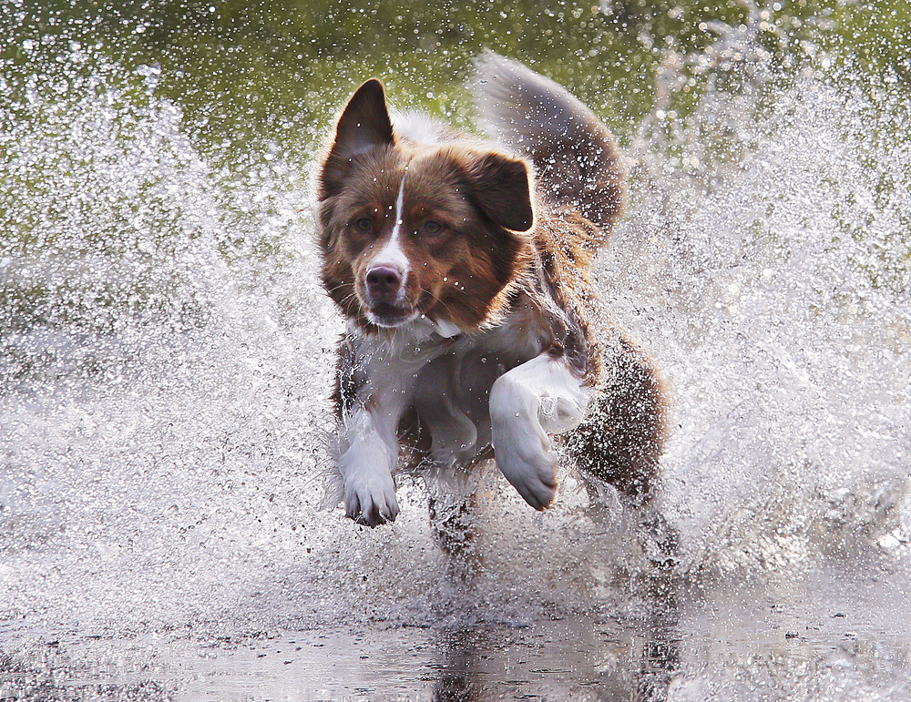
[[[367,329],[424,316],[476,330],[530,256],[532,191],[521,159],[395,137],[383,86],[370,80],[319,174],[323,283]]]

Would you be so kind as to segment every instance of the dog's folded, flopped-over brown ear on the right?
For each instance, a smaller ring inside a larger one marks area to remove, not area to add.
[[[527,231],[535,221],[531,177],[526,162],[496,151],[478,154],[468,173],[471,197],[496,224]]]

